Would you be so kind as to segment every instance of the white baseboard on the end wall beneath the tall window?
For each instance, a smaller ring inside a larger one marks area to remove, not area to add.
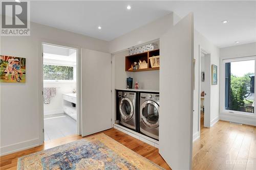
[[[220,120],[224,120],[227,122],[235,122],[235,123],[244,124],[244,125],[256,126],[256,118],[254,117],[245,117],[242,115],[231,115],[231,114],[221,113]]]

